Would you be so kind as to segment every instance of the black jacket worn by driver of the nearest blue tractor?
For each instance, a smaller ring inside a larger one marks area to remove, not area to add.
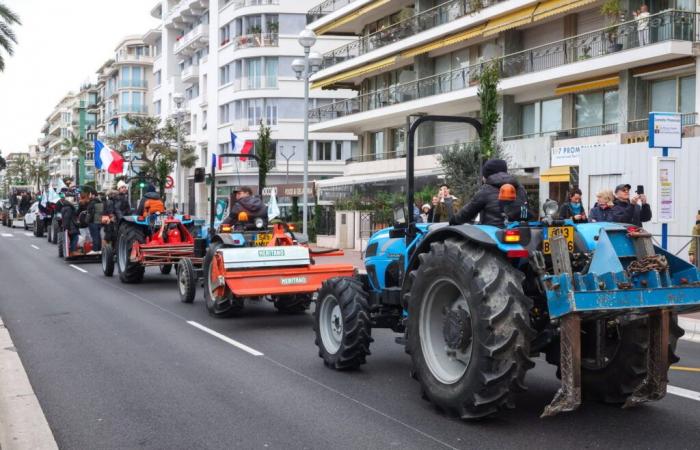
[[[473,222],[476,216],[481,214],[482,225],[502,227],[504,215],[498,194],[504,184],[512,184],[517,191],[517,201],[523,205],[527,204],[527,192],[513,175],[506,172],[494,173],[486,179],[486,183],[481,186],[472,201],[457,213],[455,223]]]

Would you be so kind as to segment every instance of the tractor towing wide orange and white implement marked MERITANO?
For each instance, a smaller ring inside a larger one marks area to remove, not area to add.
[[[257,158],[238,153],[219,157]],[[281,313],[302,313],[309,308],[324,281],[355,274],[355,268],[349,264],[316,264],[314,256],[339,256],[343,252],[310,249],[306,236],[295,233],[291,226],[280,220],[273,219],[268,224],[266,218],[249,217],[246,212],[241,212],[235,224],[220,225],[216,230],[213,225],[215,180],[216,168],[213,167],[212,227],[207,239],[197,239],[195,244],[195,255],[203,257],[202,264],[183,258],[178,266],[182,302],[194,301],[201,275],[207,311],[214,317],[238,315],[246,300],[262,299],[272,301]]]

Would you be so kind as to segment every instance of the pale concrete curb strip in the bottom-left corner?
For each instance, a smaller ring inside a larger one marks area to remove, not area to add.
[[[2,318],[0,318],[0,448],[58,448]]]

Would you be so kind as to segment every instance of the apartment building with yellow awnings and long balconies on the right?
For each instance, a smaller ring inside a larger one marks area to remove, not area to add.
[[[349,88],[357,96],[312,109],[311,130],[352,132],[359,139],[344,176],[319,183],[321,198],[400,189],[407,118],[478,117],[477,79],[487,61],[501,73],[499,141],[541,200],[563,200],[570,185],[580,185],[591,205],[602,187],[645,184],[652,168],[640,164],[655,153],[639,158],[635,152],[645,146],[639,143],[647,139],[650,111],[682,113],[684,148],[697,133],[696,4],[650,1],[650,16],[638,19],[641,0],[605,3],[617,8],[614,15],[591,0],[316,5],[308,12],[309,28],[356,38],[324,54],[312,87]],[[441,175],[441,151],[475,138],[472,130],[450,124],[423,127],[418,184]]]

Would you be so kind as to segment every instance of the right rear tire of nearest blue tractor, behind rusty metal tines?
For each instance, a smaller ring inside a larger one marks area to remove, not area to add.
[[[622,404],[632,395],[647,374],[649,323],[639,318],[625,323],[604,322],[603,362],[596,362],[595,322],[584,324],[581,337],[581,390],[584,398],[603,403]],[[678,362],[676,345],[683,336],[678,315],[671,315],[668,365]],[[587,340],[587,336],[591,336]],[[591,348],[593,347],[593,348]],[[587,351],[590,348],[590,352]],[[587,358],[588,355],[590,358]]]

